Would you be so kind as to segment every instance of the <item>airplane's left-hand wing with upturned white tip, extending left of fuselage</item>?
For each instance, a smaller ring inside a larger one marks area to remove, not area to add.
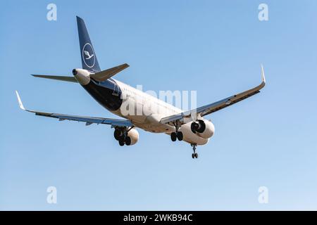
[[[73,120],[78,122],[86,122],[86,126],[90,124],[109,124],[113,127],[132,127],[133,124],[130,120],[120,120],[120,119],[109,119],[103,117],[85,117],[85,116],[77,116],[77,115],[66,115],[66,114],[59,114],[59,113],[45,113],[39,112],[34,110],[26,110],[23,106],[23,103],[20,99],[18,91],[15,91],[16,96],[18,98],[19,106],[22,110],[25,110],[30,113],[35,113],[35,115],[41,115],[44,117],[53,117],[57,118],[58,120]]]

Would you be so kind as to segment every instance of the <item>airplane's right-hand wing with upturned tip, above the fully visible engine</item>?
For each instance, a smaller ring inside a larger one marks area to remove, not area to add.
[[[266,85],[266,78],[264,76],[263,66],[261,66],[261,78],[262,82],[259,86],[254,87],[253,89],[249,89],[247,91],[243,91],[239,94],[235,94],[228,98],[223,98],[220,101],[216,101],[215,103],[211,103],[209,105],[204,105],[194,110],[188,110],[184,113],[178,113],[176,115],[170,115],[168,117],[163,117],[161,119],[162,124],[173,124],[175,122],[186,123],[191,120],[196,120],[197,116],[200,115],[203,117],[204,115],[209,115],[211,113],[215,113],[218,110],[226,108],[230,105],[238,103],[246,98],[253,96],[254,94],[258,94],[260,90]]]

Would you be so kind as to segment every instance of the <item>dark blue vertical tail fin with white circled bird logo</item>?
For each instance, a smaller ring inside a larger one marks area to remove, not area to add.
[[[78,36],[80,40],[80,56],[82,57],[82,68],[92,72],[101,71],[97,60],[92,41],[90,41],[89,34],[84,20],[77,18]]]

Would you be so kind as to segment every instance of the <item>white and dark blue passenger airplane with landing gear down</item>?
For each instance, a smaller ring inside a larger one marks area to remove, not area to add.
[[[198,153],[196,152],[197,145],[205,145],[208,143],[215,132],[213,123],[204,117],[249,98],[250,96],[254,96],[254,94],[258,94],[266,84],[263,65],[261,65],[261,84],[259,84],[259,86],[193,110],[181,110],[165,101],[161,101],[159,98],[155,98],[128,84],[113,79],[112,77],[114,75],[129,67],[127,63],[108,70],[101,70],[85,22],[78,16],[76,18],[82,68],[73,69],[73,77],[56,75],[32,76],[79,83],[92,98],[106,108],[106,110],[124,119],[87,117],[27,110],[23,106],[18,91],[15,91],[19,106],[22,110],[35,113],[35,115],[39,116],[54,117],[60,121],[73,120],[86,122],[87,126],[90,124],[111,125],[111,128],[114,128],[113,136],[120,146],[132,146],[137,143],[139,140],[139,132],[136,128],[152,133],[165,133],[170,135],[172,141],[178,140],[189,143],[192,146],[192,158],[194,159],[198,158]],[[123,96],[125,96],[125,98],[123,98]],[[149,108],[147,107],[148,103],[156,107]],[[131,108],[129,108],[129,112],[130,110],[131,112],[135,112],[137,106],[140,106],[142,112],[137,115],[136,113],[126,113],[127,109],[123,108],[123,105],[132,105]]]

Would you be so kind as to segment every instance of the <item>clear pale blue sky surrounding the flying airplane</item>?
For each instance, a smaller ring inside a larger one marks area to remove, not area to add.
[[[46,6],[57,5],[57,21]],[[269,20],[258,20],[268,4]],[[18,108],[113,117],[73,83],[30,74],[80,68],[75,15],[101,69],[145,90],[197,90],[198,105],[260,82],[261,94],[209,115],[216,134],[188,143],[139,130],[37,117]],[[8,1],[0,14],[0,210],[317,210],[316,1]],[[46,188],[56,186],[56,205]],[[258,188],[269,203],[258,203]]]

